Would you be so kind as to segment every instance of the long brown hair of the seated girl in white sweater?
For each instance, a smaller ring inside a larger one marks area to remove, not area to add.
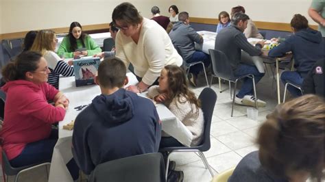
[[[184,70],[179,66],[167,65],[165,66],[167,70],[168,77],[168,92],[167,92],[167,101],[166,105],[169,105],[173,99],[178,98],[178,102],[185,103],[189,101],[192,106],[195,105],[196,111],[198,113],[199,108],[201,107],[200,101],[196,98],[195,94],[189,90],[189,83],[185,77]],[[180,96],[184,96],[186,101],[182,101]]]

